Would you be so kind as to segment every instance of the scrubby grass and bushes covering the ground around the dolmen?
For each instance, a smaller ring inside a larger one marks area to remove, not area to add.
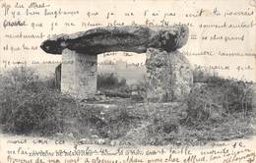
[[[125,87],[127,94],[125,81],[113,83],[125,85],[120,88]],[[255,134],[256,95],[251,83],[243,81],[214,78],[195,84],[189,97],[179,103],[138,103],[118,93],[78,101],[56,90],[52,80],[39,81],[26,69],[9,72],[0,85],[0,124],[9,134],[154,145],[198,144]]]

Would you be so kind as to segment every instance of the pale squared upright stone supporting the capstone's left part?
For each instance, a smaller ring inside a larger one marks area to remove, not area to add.
[[[96,55],[62,51],[61,91],[77,98],[96,94]]]

